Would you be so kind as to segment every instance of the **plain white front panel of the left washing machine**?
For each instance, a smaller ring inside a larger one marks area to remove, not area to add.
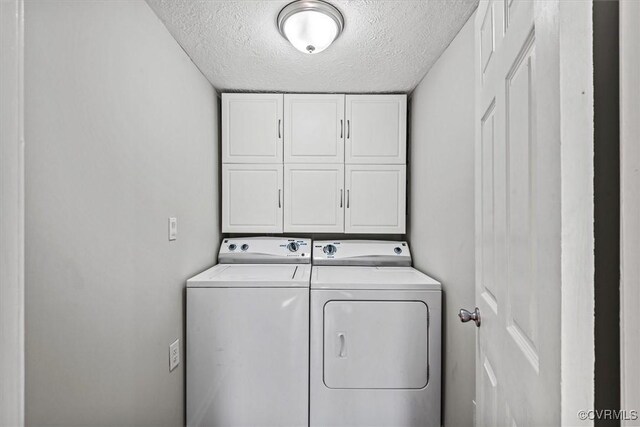
[[[187,288],[187,425],[307,425],[308,319],[308,288]]]

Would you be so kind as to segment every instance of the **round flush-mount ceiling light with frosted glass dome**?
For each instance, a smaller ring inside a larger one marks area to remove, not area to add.
[[[320,53],[338,38],[344,18],[338,9],[321,0],[298,0],[278,14],[280,34],[300,52]]]

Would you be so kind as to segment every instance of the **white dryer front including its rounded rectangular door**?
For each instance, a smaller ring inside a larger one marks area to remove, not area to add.
[[[312,287],[310,317],[310,427],[440,427],[439,290]]]

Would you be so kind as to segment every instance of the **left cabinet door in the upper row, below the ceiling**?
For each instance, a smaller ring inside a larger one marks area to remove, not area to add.
[[[282,162],[282,94],[222,94],[222,162]]]

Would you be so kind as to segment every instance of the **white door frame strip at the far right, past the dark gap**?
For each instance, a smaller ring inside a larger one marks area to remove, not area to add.
[[[640,410],[640,3],[620,1],[620,409]],[[622,425],[638,425],[623,421]]]

